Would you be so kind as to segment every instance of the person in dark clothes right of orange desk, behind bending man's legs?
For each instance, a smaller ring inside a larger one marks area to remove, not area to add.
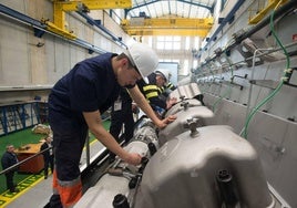
[[[49,167],[51,168],[51,171],[53,173],[53,149],[52,149],[52,137],[47,136],[44,139],[45,142],[41,145],[40,152],[44,150],[42,155],[43,155],[43,162],[44,162],[44,179],[47,179],[49,175]]]

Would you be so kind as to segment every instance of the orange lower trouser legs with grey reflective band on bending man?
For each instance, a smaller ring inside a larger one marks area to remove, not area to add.
[[[57,171],[53,171],[53,194],[59,193],[63,207],[73,207],[82,197],[81,178],[75,178],[71,181],[62,181],[57,177]]]

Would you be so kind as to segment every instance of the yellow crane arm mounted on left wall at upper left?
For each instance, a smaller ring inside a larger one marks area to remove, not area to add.
[[[42,20],[48,30],[68,39],[76,39],[72,31],[66,29],[65,12],[68,11],[90,11],[102,9],[125,9],[132,7],[132,0],[53,0],[53,23]]]

